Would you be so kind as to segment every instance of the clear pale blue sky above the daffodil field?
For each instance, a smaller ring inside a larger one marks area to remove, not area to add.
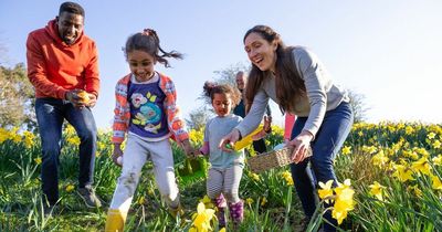
[[[1,54],[25,63],[28,33],[54,19],[63,1],[0,0]],[[145,28],[155,29],[171,60],[169,75],[182,116],[214,72],[249,65],[243,35],[256,24],[272,27],[287,45],[318,55],[338,85],[364,96],[367,120],[442,123],[442,1],[440,0],[161,0],[76,1],[86,11],[85,33],[99,53],[101,93],[93,108],[97,126],[112,124],[116,82],[129,73],[122,48]],[[282,126],[276,105],[274,122]]]

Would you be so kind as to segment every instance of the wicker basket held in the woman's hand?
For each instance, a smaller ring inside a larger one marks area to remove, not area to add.
[[[293,148],[285,147],[278,150],[260,154],[248,159],[250,169],[253,172],[262,172],[272,168],[284,167],[292,164],[291,160]],[[312,156],[312,148],[308,148],[306,157]]]

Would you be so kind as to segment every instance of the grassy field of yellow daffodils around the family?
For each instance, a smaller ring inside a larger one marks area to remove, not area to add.
[[[274,127],[269,147],[282,141]],[[201,145],[202,131],[191,131]],[[64,131],[60,157],[61,204],[54,217],[41,210],[40,139],[15,128],[0,128],[0,231],[104,231],[108,205],[120,169],[110,161],[109,131],[99,131],[95,166],[96,192],[105,207],[86,209],[76,194],[78,138],[72,127]],[[319,194],[334,207],[318,208],[309,231],[316,231],[322,213],[332,210],[344,231],[442,231],[442,127],[413,123],[356,124],[336,159],[341,184],[320,184]],[[253,150],[252,150],[253,154]],[[204,172],[178,173],[186,167],[183,152],[173,146],[185,217],[172,219],[155,188],[151,167],[146,165],[126,222],[126,231],[188,231],[192,217],[204,202]],[[246,167],[240,196],[245,219],[240,231],[299,231],[303,219],[288,168],[262,175]],[[322,201],[322,202],[323,202]],[[210,203],[206,202],[210,209]],[[202,212],[200,212],[202,213]],[[217,222],[211,221],[218,231]],[[230,228],[228,229],[228,231]]]

